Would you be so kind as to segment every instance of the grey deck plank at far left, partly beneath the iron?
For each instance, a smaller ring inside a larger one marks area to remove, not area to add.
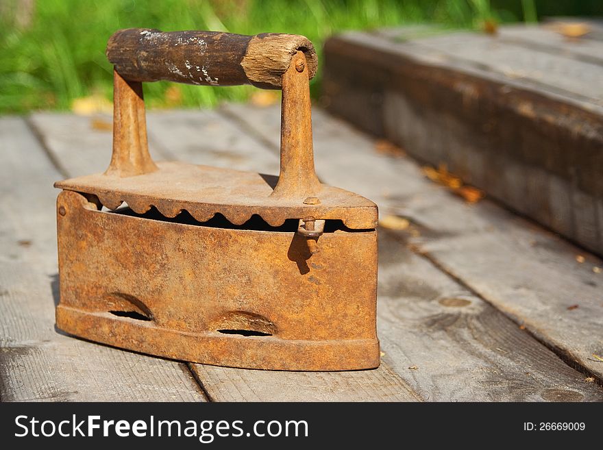
[[[62,176],[22,118],[0,118],[0,147],[0,399],[203,401],[184,364],[56,332],[52,184]]]

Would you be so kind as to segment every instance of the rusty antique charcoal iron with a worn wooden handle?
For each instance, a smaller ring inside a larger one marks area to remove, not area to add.
[[[377,367],[377,206],[315,173],[312,44],[127,29],[107,54],[110,166],[55,185],[58,328],[204,364]],[[153,162],[142,82],[157,79],[282,88],[280,176]]]

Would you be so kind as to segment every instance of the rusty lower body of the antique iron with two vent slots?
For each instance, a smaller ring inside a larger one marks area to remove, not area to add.
[[[168,358],[331,371],[379,365],[377,232],[223,229],[57,201],[65,332]],[[219,331],[221,330],[221,331]],[[250,334],[250,336],[245,336]]]

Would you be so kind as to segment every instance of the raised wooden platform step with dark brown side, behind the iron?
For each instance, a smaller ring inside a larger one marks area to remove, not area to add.
[[[603,255],[603,25],[573,24],[335,36],[323,103]]]

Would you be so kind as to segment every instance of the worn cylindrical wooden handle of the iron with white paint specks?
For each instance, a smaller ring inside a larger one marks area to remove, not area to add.
[[[160,32],[130,28],[115,32],[107,58],[125,79],[210,86],[253,84],[280,89],[291,59],[303,51],[314,77],[317,55],[312,42],[295,34],[245,36],[221,32]]]

